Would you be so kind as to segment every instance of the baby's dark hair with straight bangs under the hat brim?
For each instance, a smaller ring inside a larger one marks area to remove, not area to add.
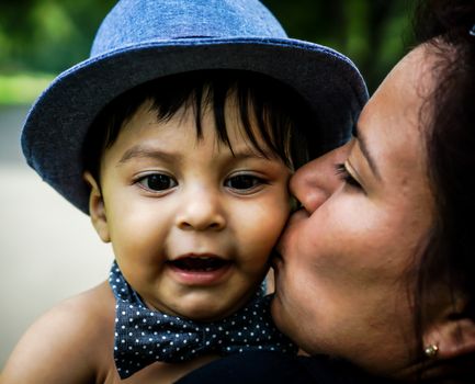
[[[92,123],[83,146],[84,168],[100,180],[102,153],[111,147],[123,125],[146,101],[157,121],[171,118],[182,106],[192,108],[196,137],[203,137],[202,114],[212,108],[217,137],[231,150],[226,128],[225,102],[234,95],[250,144],[264,151],[252,131],[256,122],[264,145],[287,167],[308,160],[306,132],[317,129],[309,105],[291,87],[268,76],[241,70],[200,70],[155,79],[133,88],[109,103]],[[315,137],[315,133],[313,134]]]

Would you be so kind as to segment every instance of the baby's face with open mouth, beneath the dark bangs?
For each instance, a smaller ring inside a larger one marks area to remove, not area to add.
[[[103,205],[92,204],[91,217],[150,308],[201,320],[235,312],[262,281],[286,222],[291,171],[245,139],[234,105],[226,112],[234,154],[211,113],[197,139],[191,111],[158,123],[143,105],[103,155]]]

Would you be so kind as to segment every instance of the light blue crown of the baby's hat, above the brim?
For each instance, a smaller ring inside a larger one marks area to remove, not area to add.
[[[158,41],[252,36],[286,37],[257,0],[122,0],[102,22],[91,57]]]

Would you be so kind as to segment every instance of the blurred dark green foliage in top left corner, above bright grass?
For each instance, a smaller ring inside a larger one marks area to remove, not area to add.
[[[0,71],[57,74],[88,57],[113,0],[1,0]]]

